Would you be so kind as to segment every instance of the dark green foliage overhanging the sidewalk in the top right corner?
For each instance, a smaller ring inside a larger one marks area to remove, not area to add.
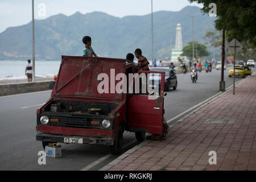
[[[212,7],[210,3],[217,5],[217,19],[215,27],[217,30],[226,30],[226,38],[230,42],[237,38],[240,42],[256,46],[256,1],[250,0],[189,0],[189,2],[203,3],[201,9],[208,14]]]

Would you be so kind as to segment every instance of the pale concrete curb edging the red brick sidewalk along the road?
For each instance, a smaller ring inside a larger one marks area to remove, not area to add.
[[[255,75],[256,72],[254,72],[251,75]],[[250,76],[248,76],[250,77]],[[237,81],[235,83],[235,85],[240,85],[241,82],[245,81],[248,77],[246,77],[243,80]],[[190,110],[192,110],[190,113],[186,114],[184,117],[178,119],[176,122],[172,123],[170,126],[174,127],[175,125],[179,124],[181,121],[183,121],[184,119],[188,118],[190,115],[195,114],[196,111],[200,110],[201,108],[203,108],[204,106],[210,104],[211,102],[213,102],[214,100],[216,100],[217,98],[221,97],[222,95],[224,95],[225,93],[229,92],[230,90],[232,90],[233,85],[230,85],[228,88],[226,88],[226,90],[224,92],[218,92],[217,94],[215,94],[214,96],[208,98],[207,100],[200,102],[199,104],[191,107],[190,109],[184,111],[183,113],[177,115],[176,117],[169,119],[167,121],[167,123],[170,123],[171,121],[174,121],[175,119],[179,118],[181,115],[184,115],[185,113],[188,113]],[[205,103],[204,103],[205,102]],[[198,107],[197,107],[198,106]],[[197,108],[196,108],[197,107]],[[195,108],[195,109],[193,109]],[[179,117],[178,117],[179,116]],[[168,136],[167,136],[168,137]],[[137,146],[131,148],[130,150],[126,151],[124,154],[122,154],[121,156],[119,156],[117,159],[114,159],[112,162],[110,162],[109,164],[107,164],[106,166],[102,167],[101,169],[99,169],[99,171],[107,171],[110,168],[114,167],[116,164],[118,164],[119,162],[121,162],[121,160],[125,159],[127,156],[129,156],[130,154],[132,154],[133,152],[137,151],[139,148],[145,146],[147,143],[149,143],[151,140],[146,140],[140,144],[138,144]]]

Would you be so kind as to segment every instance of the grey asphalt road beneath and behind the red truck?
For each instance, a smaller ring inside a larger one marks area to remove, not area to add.
[[[233,83],[225,71],[226,88]],[[177,90],[167,92],[164,100],[166,119],[171,119],[201,101],[218,93],[220,71],[199,73],[193,84],[190,73],[177,75]],[[236,81],[241,78],[236,78]],[[0,170],[80,170],[109,154],[108,146],[61,144],[61,158],[47,158],[46,165],[38,164],[42,143],[35,140],[36,109],[50,96],[51,91],[0,97]],[[138,144],[133,133],[124,134],[123,152]],[[117,156],[111,156],[92,169],[100,169]]]

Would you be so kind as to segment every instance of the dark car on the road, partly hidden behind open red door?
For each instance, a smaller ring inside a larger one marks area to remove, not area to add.
[[[170,91],[171,88],[177,89],[177,76],[175,71],[169,67],[155,67],[150,68],[150,71],[166,72],[166,77],[164,78],[164,90]]]

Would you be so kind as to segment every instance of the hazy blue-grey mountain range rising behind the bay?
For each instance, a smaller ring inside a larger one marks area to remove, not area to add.
[[[170,42],[175,44],[177,23],[181,24],[183,46],[192,41],[192,20],[195,18],[195,40],[203,36],[214,19],[202,15],[200,8],[187,6],[174,11],[154,13],[154,54],[156,59],[170,56]],[[32,56],[31,22],[7,28],[0,34],[0,60],[27,60]],[[98,56],[123,58],[135,48],[151,59],[151,15],[117,18],[101,12],[66,16],[58,14],[35,20],[36,60],[59,60],[61,55],[82,55],[82,37],[92,38],[92,47]]]

